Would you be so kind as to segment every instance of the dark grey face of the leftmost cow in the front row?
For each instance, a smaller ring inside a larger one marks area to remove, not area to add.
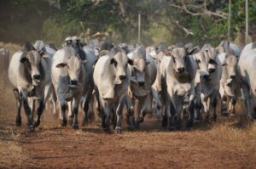
[[[41,55],[35,50],[24,52],[20,58],[20,63],[24,64],[28,68],[32,78],[32,85],[38,86],[41,82]]]

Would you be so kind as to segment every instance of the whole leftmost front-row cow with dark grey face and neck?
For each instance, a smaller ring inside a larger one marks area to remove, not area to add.
[[[15,87],[17,104],[16,125],[21,125],[20,108],[23,105],[29,131],[38,127],[44,111],[44,89],[50,82],[47,58],[48,55],[41,56],[30,42],[25,42],[23,48],[13,55],[9,63],[9,81]],[[38,102],[38,116],[33,124],[31,107],[34,101]]]

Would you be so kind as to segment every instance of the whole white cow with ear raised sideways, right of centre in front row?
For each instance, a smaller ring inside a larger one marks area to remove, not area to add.
[[[198,48],[169,48],[160,62],[161,93],[165,105],[163,127],[176,129],[181,125],[183,105],[189,105],[190,127],[193,121],[195,98],[195,60],[190,56]]]

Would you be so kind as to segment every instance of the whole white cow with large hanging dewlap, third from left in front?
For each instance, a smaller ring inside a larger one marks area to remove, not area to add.
[[[128,64],[133,62],[121,48],[112,48],[109,55],[96,62],[93,80],[105,132],[110,132],[111,116],[117,117],[115,132],[121,132],[121,115],[130,80]]]

